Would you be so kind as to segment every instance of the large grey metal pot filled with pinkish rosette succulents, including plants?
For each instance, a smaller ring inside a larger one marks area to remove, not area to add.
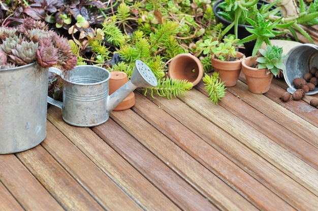
[[[37,146],[46,136],[48,68],[73,69],[77,57],[66,38],[26,18],[0,27],[0,154]]]

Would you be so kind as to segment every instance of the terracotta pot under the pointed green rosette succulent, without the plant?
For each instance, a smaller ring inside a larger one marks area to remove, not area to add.
[[[250,67],[257,57],[251,56],[242,60],[242,72],[245,75],[248,90],[255,94],[263,94],[269,90],[273,80],[273,74],[267,69]]]

